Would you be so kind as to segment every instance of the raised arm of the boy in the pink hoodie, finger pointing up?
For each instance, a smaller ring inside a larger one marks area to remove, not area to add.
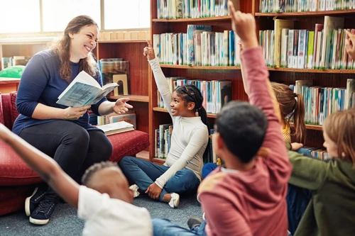
[[[249,101],[252,105],[261,108],[268,119],[263,147],[271,150],[269,157],[276,163],[276,168],[290,172],[285,141],[280,132],[280,116],[276,115],[279,115],[280,111],[275,104],[275,96],[268,80],[268,69],[263,60],[261,47],[258,46],[255,18],[251,14],[235,11],[231,1],[229,1],[229,11],[232,28],[239,35],[244,46],[241,57],[245,70],[244,79],[249,88]],[[273,167],[269,166],[269,168]]]

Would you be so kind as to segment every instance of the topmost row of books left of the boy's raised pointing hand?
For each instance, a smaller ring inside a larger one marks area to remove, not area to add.
[[[229,16],[229,0],[157,0],[158,18],[202,18]],[[239,0],[233,0],[239,9]]]

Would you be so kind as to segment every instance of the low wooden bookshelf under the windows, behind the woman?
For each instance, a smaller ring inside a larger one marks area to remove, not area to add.
[[[48,48],[55,38],[4,38],[0,39],[0,58],[35,55],[36,52]],[[99,40],[94,49],[98,60],[110,57],[122,57],[129,61],[131,95],[129,103],[136,111],[137,130],[149,133],[148,128],[148,62],[142,52],[146,40]],[[1,67],[1,66],[0,66]],[[1,69],[1,68],[0,68]],[[17,91],[18,81],[2,79],[1,92]],[[125,96],[126,97],[126,96]],[[112,101],[119,96],[110,96]]]

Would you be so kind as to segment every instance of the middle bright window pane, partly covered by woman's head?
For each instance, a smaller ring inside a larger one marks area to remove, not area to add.
[[[99,0],[42,0],[43,31],[64,31],[75,16],[87,15],[101,26]]]

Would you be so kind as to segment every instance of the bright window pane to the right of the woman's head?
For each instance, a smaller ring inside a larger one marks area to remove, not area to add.
[[[104,28],[151,28],[149,0],[104,0]]]

